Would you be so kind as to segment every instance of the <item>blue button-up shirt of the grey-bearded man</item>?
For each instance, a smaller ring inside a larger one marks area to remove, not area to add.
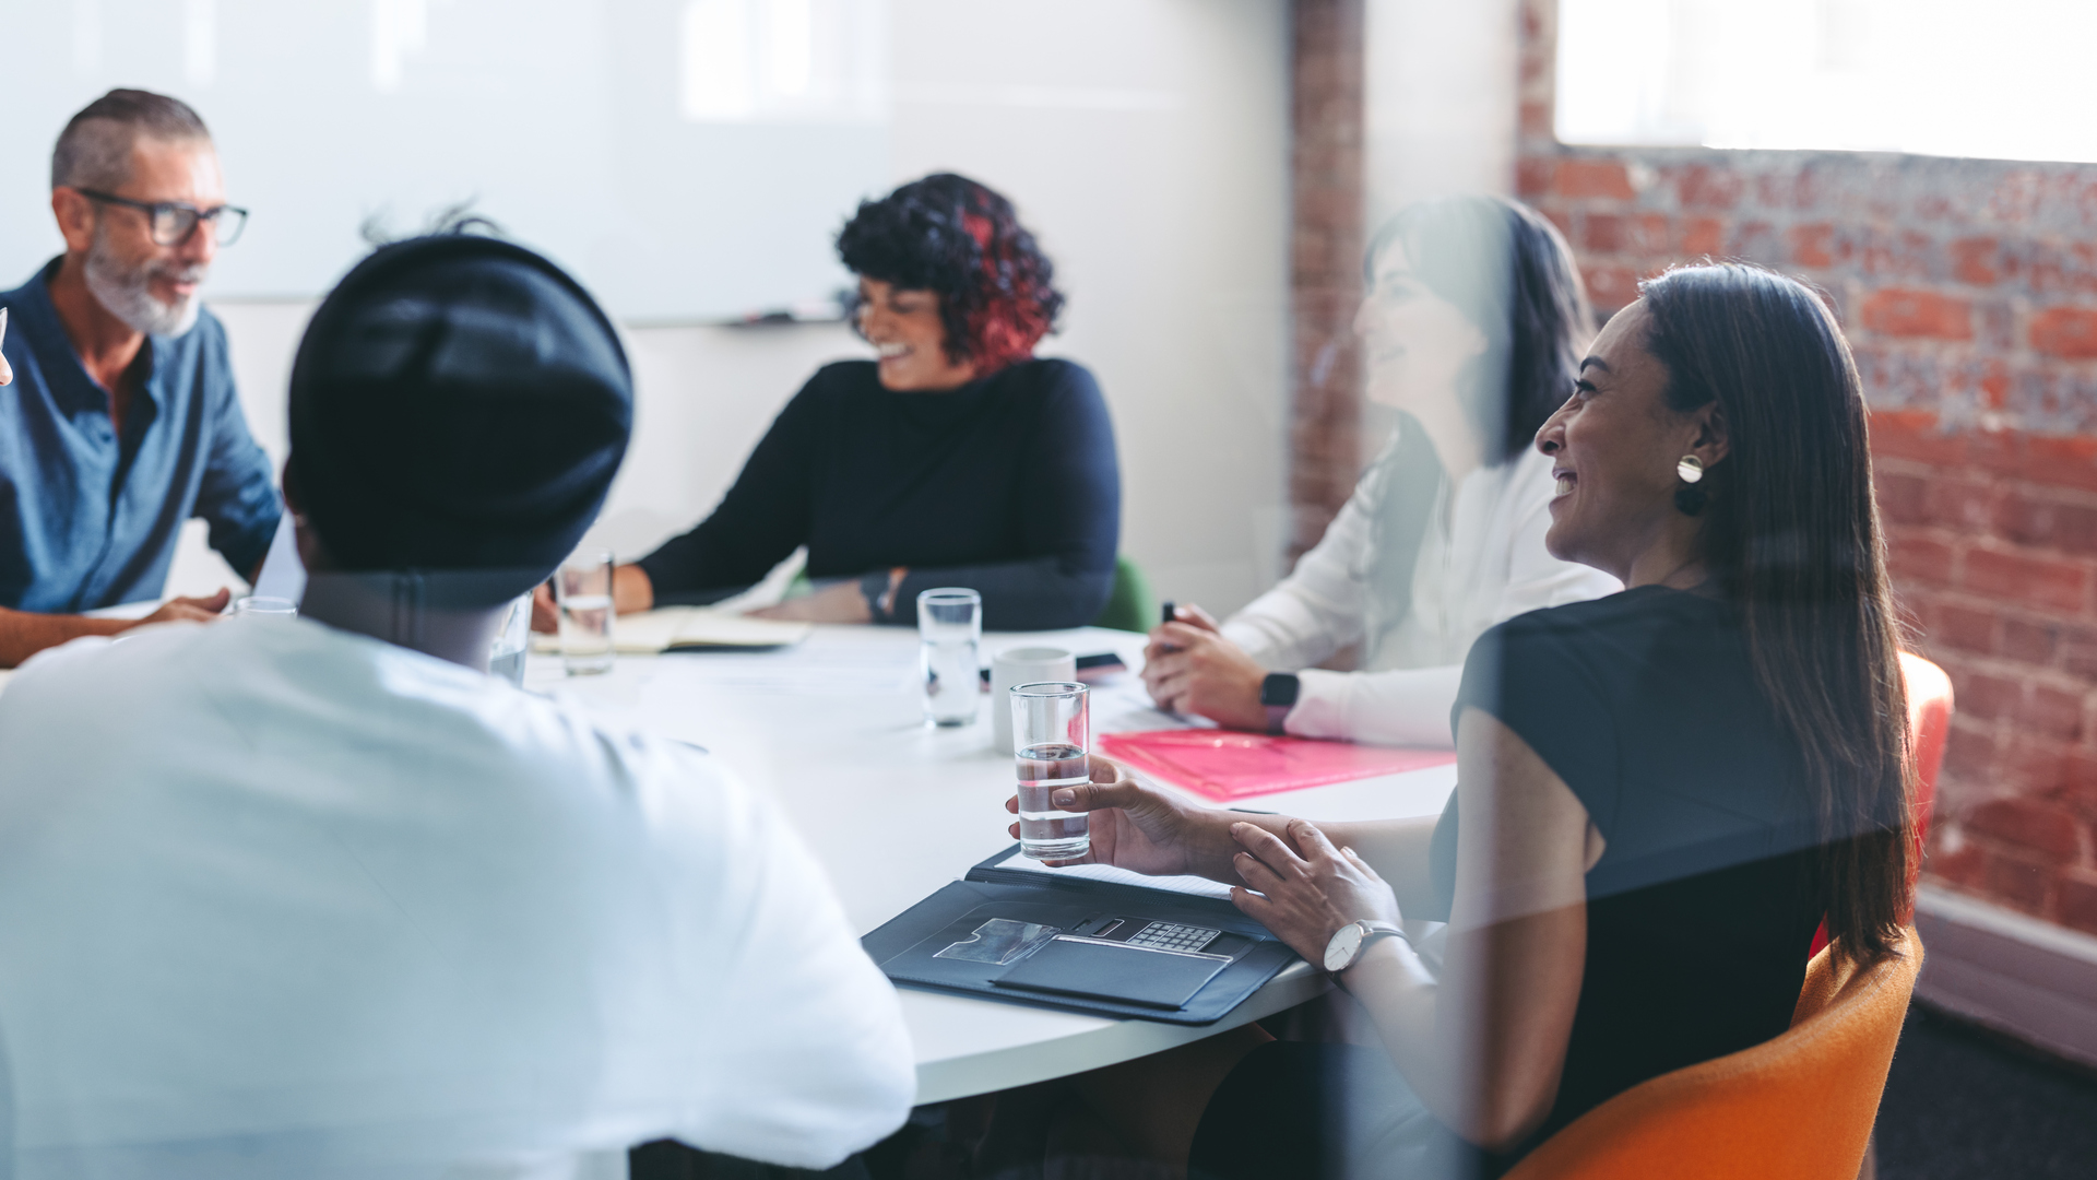
[[[0,607],[75,613],[157,598],[191,517],[250,577],[283,506],[233,391],[226,330],[203,311],[180,336],[147,338],[151,370],[120,439],[109,393],[50,304],[57,273],[52,260],[0,294],[15,367],[15,384],[0,386]]]

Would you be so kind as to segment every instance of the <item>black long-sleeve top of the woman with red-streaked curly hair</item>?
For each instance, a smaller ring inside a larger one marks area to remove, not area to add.
[[[1122,477],[1099,384],[1021,361],[948,393],[893,393],[872,361],[816,370],[721,504],[640,561],[658,600],[749,586],[797,546],[807,575],[898,565],[893,621],[967,586],[983,626],[1076,628],[1114,592]]]

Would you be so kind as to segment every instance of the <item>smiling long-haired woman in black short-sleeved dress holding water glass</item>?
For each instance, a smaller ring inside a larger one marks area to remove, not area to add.
[[[1382,1041],[1248,1027],[1076,1079],[1130,1155],[1193,1176],[1506,1167],[1644,1079],[1780,1035],[1822,915],[1835,955],[1898,953],[1908,714],[1862,388],[1826,307],[1753,267],[1663,275],[1537,447],[1548,548],[1627,590],[1478,640],[1439,823],[1191,808],[1114,766],[1055,800],[1095,813],[1095,861],[1239,886]],[[1449,922],[1441,966],[1384,936],[1401,918]]]

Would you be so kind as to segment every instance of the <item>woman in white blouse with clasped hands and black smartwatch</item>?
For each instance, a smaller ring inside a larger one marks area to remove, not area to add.
[[[1220,626],[1181,607],[1143,680],[1160,708],[1235,729],[1447,747],[1485,628],[1621,588],[1543,550],[1552,464],[1531,445],[1592,315],[1564,237],[1499,197],[1401,212],[1365,277],[1367,395],[1399,428],[1285,582]],[[1313,668],[1357,642],[1361,672]]]

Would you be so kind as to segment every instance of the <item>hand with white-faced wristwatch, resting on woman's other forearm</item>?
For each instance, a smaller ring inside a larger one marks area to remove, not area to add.
[[[1288,840],[1252,823],[1233,823],[1233,857],[1246,888],[1231,903],[1273,930],[1313,964],[1325,962],[1325,943],[1348,922],[1399,924],[1399,899],[1353,848],[1334,848],[1315,823],[1292,819]],[[1292,848],[1294,844],[1294,848]]]

